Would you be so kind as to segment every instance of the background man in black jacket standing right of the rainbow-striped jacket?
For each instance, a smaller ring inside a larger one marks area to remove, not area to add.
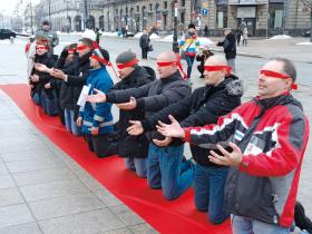
[[[225,36],[223,41],[217,42],[216,46],[223,47],[225,58],[227,60],[228,66],[232,67],[233,72],[236,72],[235,69],[235,58],[236,58],[236,39],[235,35],[231,31],[230,28],[223,29],[223,33]]]

